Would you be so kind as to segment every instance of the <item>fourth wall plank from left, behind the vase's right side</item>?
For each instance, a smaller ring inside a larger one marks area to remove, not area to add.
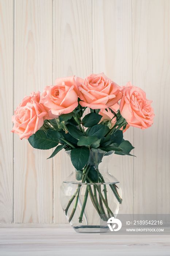
[[[93,72],[120,86],[132,80],[131,0],[93,0]],[[133,144],[133,128],[124,133]],[[110,172],[123,188],[120,213],[134,212],[133,157],[113,155]]]

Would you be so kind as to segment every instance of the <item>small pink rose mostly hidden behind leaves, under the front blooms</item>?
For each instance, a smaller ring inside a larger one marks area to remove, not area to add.
[[[110,108],[116,113],[117,110],[119,109],[119,104],[116,103]],[[105,121],[110,121],[109,128],[111,129],[116,123],[116,117],[114,117],[114,114],[111,112],[111,110],[109,110],[109,108],[107,110],[105,109],[100,110],[99,114],[102,116],[100,123]]]

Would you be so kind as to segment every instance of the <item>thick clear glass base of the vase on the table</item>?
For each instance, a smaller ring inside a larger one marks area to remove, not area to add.
[[[109,227],[85,225],[85,226],[74,226],[73,229],[77,233],[105,233],[109,230]]]

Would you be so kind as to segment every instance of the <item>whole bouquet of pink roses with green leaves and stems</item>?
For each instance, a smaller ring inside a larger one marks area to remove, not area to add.
[[[146,93],[132,86],[131,82],[120,87],[104,73],[92,74],[84,80],[74,76],[59,78],[55,86],[46,86],[41,96],[38,91],[23,99],[12,117],[12,132],[17,133],[20,139],[28,139],[34,148],[47,150],[55,147],[49,158],[54,157],[62,148],[70,150],[77,180],[82,183],[102,183],[104,178],[97,167],[99,162],[93,159],[94,166],[88,162],[90,151],[97,149],[105,154],[115,151],[115,154],[131,155],[130,151],[134,147],[123,139],[123,132],[130,126],[141,129],[151,127],[154,118],[151,102],[146,99]],[[85,114],[87,108],[90,113]],[[69,200],[66,215],[70,204],[78,196],[80,186]],[[116,186],[110,186],[121,203]],[[103,202],[108,214],[112,215],[107,203],[107,192],[104,198],[97,185],[96,189],[100,203]],[[92,195],[90,187],[87,188],[88,192]],[[85,204],[79,222],[82,221]],[[97,197],[93,205],[99,214],[104,214]],[[69,221],[75,210],[74,207]]]

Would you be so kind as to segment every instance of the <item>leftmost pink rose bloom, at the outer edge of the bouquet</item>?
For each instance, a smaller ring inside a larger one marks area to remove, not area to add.
[[[42,127],[45,119],[50,119],[48,111],[39,100],[40,92],[32,92],[30,96],[24,97],[12,116],[14,125],[11,132],[18,134],[20,139],[28,139]]]

